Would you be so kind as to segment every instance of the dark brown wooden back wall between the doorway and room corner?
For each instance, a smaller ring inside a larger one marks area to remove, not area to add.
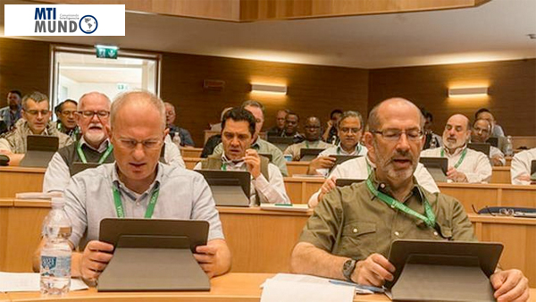
[[[363,69],[179,54],[164,54],[162,66],[161,96],[177,106],[177,122],[192,132],[196,146],[203,143],[208,123],[220,120],[223,108],[247,99],[266,106],[265,129],[282,108],[299,113],[300,122],[316,115],[322,124],[334,108],[367,109],[368,71]],[[224,80],[225,88],[205,90],[203,80]],[[251,93],[251,82],[287,85],[288,94]]]

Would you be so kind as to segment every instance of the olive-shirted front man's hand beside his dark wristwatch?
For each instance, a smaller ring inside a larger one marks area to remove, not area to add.
[[[362,261],[357,261],[356,270],[352,273],[352,281],[381,287],[385,281],[392,281],[395,266],[381,254],[374,253]]]

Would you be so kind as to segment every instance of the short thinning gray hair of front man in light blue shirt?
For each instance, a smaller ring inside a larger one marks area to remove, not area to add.
[[[139,97],[134,98],[133,96],[139,96]],[[163,105],[163,101],[158,96],[155,96],[155,94],[147,90],[126,91],[126,92],[121,93],[118,96],[115,96],[115,98],[113,99],[113,103],[112,103],[112,110],[110,112],[110,125],[112,125],[112,127],[113,127],[113,123],[115,122],[115,115],[119,112],[119,110],[121,109],[123,105],[127,105],[130,102],[139,102],[139,103],[145,103],[148,105],[153,105],[155,109],[158,111],[158,113],[160,113],[163,129],[166,128],[165,107]]]

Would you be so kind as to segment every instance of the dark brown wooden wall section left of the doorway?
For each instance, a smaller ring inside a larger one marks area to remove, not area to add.
[[[0,107],[7,105],[7,92],[49,92],[49,43],[0,38]]]

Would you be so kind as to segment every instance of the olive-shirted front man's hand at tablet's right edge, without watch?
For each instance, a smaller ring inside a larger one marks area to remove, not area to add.
[[[498,302],[527,301],[529,299],[529,280],[519,270],[494,273],[490,277],[495,289],[493,295]]]

